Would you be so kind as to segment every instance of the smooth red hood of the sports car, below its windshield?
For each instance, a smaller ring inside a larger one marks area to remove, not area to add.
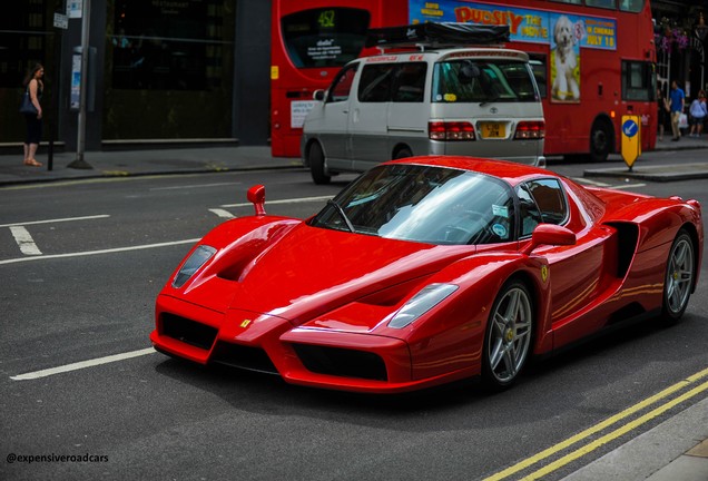
[[[474,253],[306,224],[268,245],[237,273],[230,308],[302,324],[384,288],[432,275]]]

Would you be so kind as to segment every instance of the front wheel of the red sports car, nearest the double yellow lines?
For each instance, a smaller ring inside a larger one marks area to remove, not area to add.
[[[529,288],[520,281],[504,284],[484,334],[482,381],[488,387],[499,391],[517,380],[530,355],[533,323]]]

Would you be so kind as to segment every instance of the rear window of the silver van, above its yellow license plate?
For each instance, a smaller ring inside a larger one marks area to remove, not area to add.
[[[435,63],[434,102],[534,102],[539,92],[528,63],[512,60],[452,60]]]

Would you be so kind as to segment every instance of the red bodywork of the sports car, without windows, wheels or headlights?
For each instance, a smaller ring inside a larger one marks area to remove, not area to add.
[[[489,313],[512,276],[533,293],[532,351],[543,354],[623,316],[659,310],[680,228],[695,238],[701,262],[696,202],[583,188],[548,170],[501,161],[422,157],[389,164],[474,170],[512,187],[557,178],[568,203],[563,226],[577,240],[529,253],[531,239],[431,245],[267,215],[229,220],[198,243],[216,254],[174,287],[180,266],[160,292],[155,347],[201,364],[277,373],[296,384],[409,391],[480,374]],[[437,283],[458,289],[412,324],[389,325],[415,293]],[[330,372],[323,356],[365,365],[371,375],[357,367]]]

